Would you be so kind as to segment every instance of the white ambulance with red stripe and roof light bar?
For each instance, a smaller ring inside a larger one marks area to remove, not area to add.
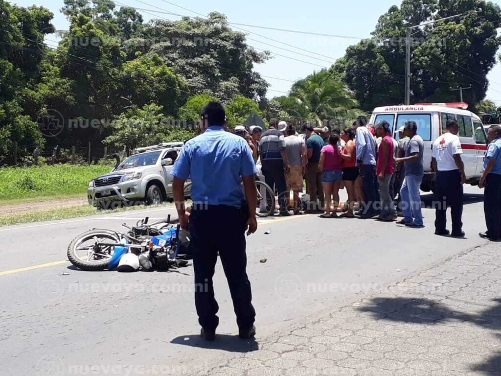
[[[468,104],[458,103],[417,103],[409,106],[377,107],[371,115],[371,124],[386,120],[392,125],[393,137],[398,140],[398,129],[406,121],[414,120],[417,133],[424,141],[424,177],[421,184],[423,192],[434,190],[435,174],[431,170],[433,141],[445,132],[447,120],[459,124],[459,140],[463,149],[462,160],[466,182],[478,185],[483,171],[483,157],[487,149],[487,137],[480,118],[467,110]]]

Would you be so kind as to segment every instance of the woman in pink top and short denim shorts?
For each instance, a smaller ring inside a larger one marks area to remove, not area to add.
[[[325,213],[320,218],[337,218],[339,205],[339,187],[343,179],[343,159],[338,146],[339,136],[331,135],[329,144],[320,152],[319,169],[322,173],[322,185],[325,193]],[[331,203],[334,204],[334,212],[331,214]]]

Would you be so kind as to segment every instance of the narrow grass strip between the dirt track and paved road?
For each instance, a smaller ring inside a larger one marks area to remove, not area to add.
[[[162,205],[139,205],[133,207],[125,207],[118,208],[114,210],[97,210],[96,208],[90,205],[79,205],[68,208],[56,208],[56,209],[47,209],[34,211],[30,213],[24,214],[15,214],[0,217],[0,226],[12,226],[12,225],[20,225],[25,223],[33,223],[33,222],[43,222],[43,221],[57,221],[69,218],[77,218],[77,217],[87,217],[87,216],[96,216],[96,215],[104,215],[104,214],[115,214],[122,212],[129,212],[134,210],[145,210],[145,209],[157,209],[163,207],[171,207],[172,203],[165,203]]]

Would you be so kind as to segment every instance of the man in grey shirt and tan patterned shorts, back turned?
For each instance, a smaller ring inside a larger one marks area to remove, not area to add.
[[[299,192],[303,189],[303,176],[306,168],[306,145],[303,139],[296,135],[296,127],[289,125],[286,129],[285,138],[287,157],[289,158],[290,169],[286,173],[287,182],[287,204],[292,207],[294,214],[300,214],[298,209]],[[290,192],[294,192],[294,201],[290,204]]]

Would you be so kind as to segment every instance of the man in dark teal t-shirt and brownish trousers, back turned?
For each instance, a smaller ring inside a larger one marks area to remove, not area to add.
[[[306,147],[308,162],[306,164],[306,185],[310,195],[310,205],[306,211],[308,214],[324,213],[321,208],[325,206],[324,188],[322,186],[322,171],[319,170],[321,150],[324,147],[324,140],[317,133],[312,124],[305,125]],[[320,201],[318,207],[317,199]]]

